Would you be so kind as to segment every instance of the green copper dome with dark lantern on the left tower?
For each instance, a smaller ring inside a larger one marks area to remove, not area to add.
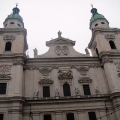
[[[21,22],[23,22],[23,18],[19,15],[19,12],[20,12],[19,8],[17,8],[17,7],[13,8],[13,13],[8,15],[8,17],[5,19],[5,21],[8,19],[18,19]]]

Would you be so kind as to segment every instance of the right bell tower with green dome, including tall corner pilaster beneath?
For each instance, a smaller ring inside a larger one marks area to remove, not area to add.
[[[92,37],[88,47],[92,55],[98,57],[103,65],[110,93],[120,92],[117,66],[115,65],[120,58],[120,29],[110,28],[108,20],[99,14],[96,8],[92,8],[91,13],[90,30]]]

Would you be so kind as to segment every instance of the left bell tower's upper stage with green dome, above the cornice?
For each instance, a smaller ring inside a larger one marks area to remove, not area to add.
[[[0,54],[25,53],[28,49],[27,31],[19,12],[20,9],[16,6],[3,22],[4,28],[0,29]]]

